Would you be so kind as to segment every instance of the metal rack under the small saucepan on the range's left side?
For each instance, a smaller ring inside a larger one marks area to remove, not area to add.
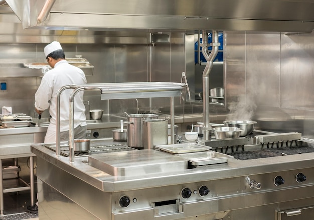
[[[113,145],[105,145],[105,146],[92,146],[89,151],[87,152],[75,152],[75,157],[80,156],[88,156],[93,154],[100,154],[100,153],[112,153],[112,152],[123,152],[123,151],[131,151],[136,150],[132,147],[124,146],[122,144],[113,144]],[[60,154],[66,157],[70,156],[70,152],[68,149],[60,149]]]

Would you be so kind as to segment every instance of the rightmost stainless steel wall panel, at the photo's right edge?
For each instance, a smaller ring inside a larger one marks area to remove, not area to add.
[[[281,106],[314,108],[313,33],[281,36]]]

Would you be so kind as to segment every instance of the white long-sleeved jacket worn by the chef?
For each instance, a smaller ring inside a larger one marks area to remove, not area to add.
[[[49,107],[51,116],[45,143],[56,142],[56,94],[62,86],[72,84],[86,84],[85,74],[80,68],[61,60],[45,73],[35,93],[35,107],[41,111]],[[69,130],[69,98],[72,91],[73,89],[66,89],[60,95],[60,132]],[[74,128],[86,126],[83,94],[84,91],[80,91],[74,97]]]

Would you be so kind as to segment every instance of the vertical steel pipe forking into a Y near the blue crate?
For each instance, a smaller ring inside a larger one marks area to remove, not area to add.
[[[209,54],[208,52],[208,32],[203,31],[202,33],[203,45],[202,45],[202,53],[207,60],[205,69],[203,71],[203,129],[204,129],[204,140],[209,140],[210,134],[210,125],[209,125],[209,74],[213,68],[213,60],[218,54],[218,31],[212,32],[212,52]],[[205,43],[206,40],[206,43]]]

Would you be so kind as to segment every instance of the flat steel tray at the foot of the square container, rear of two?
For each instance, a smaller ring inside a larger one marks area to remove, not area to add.
[[[204,152],[206,150],[211,150],[212,147],[204,146],[197,143],[178,143],[170,145],[157,145],[155,149],[160,149],[169,153],[191,153],[191,152]]]

